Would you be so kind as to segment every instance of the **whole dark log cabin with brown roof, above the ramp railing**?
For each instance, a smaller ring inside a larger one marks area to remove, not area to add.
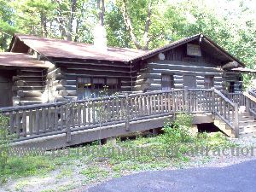
[[[0,54],[0,107],[81,100],[106,87],[109,94],[184,86],[236,92],[244,67],[202,34],[150,51],[15,34]]]

